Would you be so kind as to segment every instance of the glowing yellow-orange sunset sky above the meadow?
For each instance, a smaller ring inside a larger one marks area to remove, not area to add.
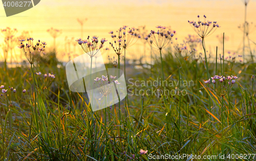
[[[18,34],[22,31],[31,32],[31,37],[46,41],[49,47],[53,45],[53,38],[46,32],[51,27],[59,29],[62,34],[56,39],[58,51],[65,48],[65,37],[69,39],[80,38],[80,24],[77,18],[88,18],[83,26],[83,36],[97,35],[99,38],[105,37],[112,41],[110,31],[116,31],[122,25],[138,27],[146,25],[147,30],[156,30],[156,25],[171,26],[177,31],[178,40],[183,40],[188,34],[196,33],[190,27],[187,20],[197,20],[197,15],[206,15],[210,21],[217,21],[221,28],[214,34],[206,38],[206,45],[215,50],[220,46],[217,35],[223,34],[229,37],[225,42],[225,50],[235,51],[242,42],[243,33],[238,29],[238,25],[244,21],[244,1],[67,1],[67,0],[43,0],[30,10],[14,16],[6,17],[4,7],[0,8],[0,29],[7,26],[16,28]],[[255,20],[256,1],[249,1],[247,8],[247,21]],[[254,22],[255,24],[256,22]],[[252,41],[256,41],[255,32],[250,35]],[[3,37],[0,43],[3,43]],[[130,52],[138,52],[136,49]],[[77,49],[78,50],[78,49]],[[140,49],[138,49],[140,50]],[[142,51],[142,49],[141,49]],[[140,52],[140,51],[139,51]],[[0,54],[2,50],[0,50]],[[113,53],[114,55],[114,53]],[[132,53],[131,53],[132,55]]]

